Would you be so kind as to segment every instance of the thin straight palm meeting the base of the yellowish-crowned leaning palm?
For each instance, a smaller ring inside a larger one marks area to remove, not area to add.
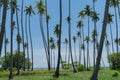
[[[48,51],[48,65],[50,65],[50,46],[49,46],[49,19],[50,16],[48,15],[48,11],[47,11],[47,0],[45,0],[45,8],[46,8],[46,24],[47,24],[47,51]],[[48,69],[50,70],[50,67],[48,67]]]

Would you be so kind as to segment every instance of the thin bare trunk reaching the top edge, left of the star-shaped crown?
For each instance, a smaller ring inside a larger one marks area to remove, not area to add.
[[[23,28],[23,5],[24,5],[24,0],[22,0],[22,6],[21,6],[21,29],[22,29],[22,47],[23,47],[23,53],[24,53],[24,68],[23,70],[25,71],[25,48],[24,48],[24,28]]]

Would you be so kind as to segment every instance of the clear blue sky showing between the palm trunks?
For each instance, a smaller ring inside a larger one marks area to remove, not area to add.
[[[37,13],[37,9],[35,8],[36,2],[39,0],[24,0],[25,4],[24,6],[29,6],[32,5],[36,15],[31,16],[31,30],[32,30],[32,36],[33,36],[33,47],[34,47],[34,67],[35,68],[43,68],[47,67],[46,63],[46,56],[45,56],[45,51],[44,51],[44,46],[42,43],[42,37],[41,37],[41,32],[40,32],[40,26],[39,26],[39,15]],[[50,36],[54,37],[56,39],[56,36],[54,35],[54,26],[56,24],[59,24],[59,0],[47,0],[48,1],[48,13],[50,14],[50,22],[49,22],[49,29],[50,29]],[[21,6],[21,0],[18,0],[19,5]],[[68,16],[68,0],[63,0],[62,2],[62,9],[63,9],[63,21],[62,21],[62,42],[64,41],[64,38],[68,37],[68,25],[67,21],[65,18]],[[72,23],[72,36],[76,35],[78,29],[76,28],[76,23],[80,20],[78,18],[78,13],[83,10],[86,6],[86,4],[90,5],[92,7],[93,3],[92,0],[71,0],[71,23]],[[105,6],[105,0],[97,0],[96,1],[96,11],[99,13],[100,20],[97,22],[97,27],[98,27],[98,32],[100,36],[100,32],[102,29],[102,20],[103,20],[103,14],[104,14],[104,6]],[[9,12],[9,11],[8,11]],[[20,14],[19,14],[20,17]],[[25,16],[24,16],[25,17]],[[20,21],[20,19],[19,19]],[[45,17],[44,17],[44,22],[45,22]],[[87,18],[84,19],[84,30],[85,30],[85,35],[87,35]],[[9,14],[7,14],[7,37],[10,38],[10,27],[9,25]],[[46,33],[46,24],[44,23],[44,30]],[[93,30],[93,22],[90,21],[90,33]],[[16,31],[14,32],[14,50],[17,49],[16,45]],[[109,32],[109,31],[108,31]],[[90,35],[91,36],[91,35]],[[73,44],[72,44],[73,45]],[[90,56],[92,57],[92,43],[90,43]],[[8,45],[9,47],[9,45]],[[76,45],[78,47],[78,45]],[[3,48],[4,49],[4,48]],[[106,49],[104,48],[103,50],[103,58],[104,61],[107,64],[107,59],[106,59]],[[9,51],[9,48],[8,48]],[[3,50],[4,53],[4,50]],[[4,55],[4,54],[3,54]],[[57,50],[55,50],[55,55],[57,57]],[[65,55],[65,46],[62,45],[62,56]],[[78,55],[78,48],[77,48],[77,55]],[[74,56],[74,54],[73,54]],[[56,58],[57,62],[57,58]],[[92,62],[92,59],[91,59]]]

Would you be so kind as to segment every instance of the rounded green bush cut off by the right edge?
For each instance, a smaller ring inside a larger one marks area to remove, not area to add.
[[[108,56],[110,68],[113,70],[120,70],[120,53],[114,53]]]

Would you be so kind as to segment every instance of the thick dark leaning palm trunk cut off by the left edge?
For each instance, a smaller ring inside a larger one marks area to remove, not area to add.
[[[1,23],[1,31],[0,31],[0,57],[2,52],[3,38],[5,34],[5,23],[6,23],[6,14],[7,14],[7,5],[8,0],[4,0],[3,4],[3,14],[2,14],[2,23]]]

